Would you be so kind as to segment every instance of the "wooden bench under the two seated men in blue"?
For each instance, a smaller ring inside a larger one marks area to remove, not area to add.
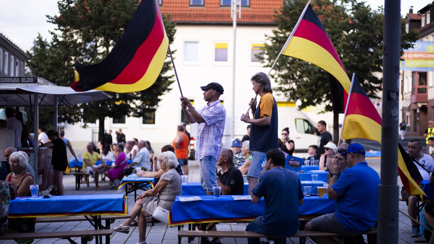
[[[368,235],[368,244],[375,244],[377,241],[377,228],[372,228],[369,231],[365,231],[362,235]],[[322,231],[297,231],[296,234],[289,237],[339,237],[345,236],[337,233],[322,232]],[[267,236],[264,234],[255,233],[252,231],[178,231],[178,237],[214,237],[210,243],[214,243],[217,238],[233,237],[233,238],[266,238],[275,237]],[[347,242],[345,242],[347,243]]]

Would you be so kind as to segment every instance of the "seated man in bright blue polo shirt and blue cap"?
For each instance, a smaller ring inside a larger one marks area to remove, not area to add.
[[[378,185],[380,177],[377,171],[365,162],[365,149],[358,143],[349,145],[346,152],[350,168],[337,176],[338,164],[329,164],[330,183],[329,199],[336,199],[336,211],[309,221],[306,231],[325,231],[345,235],[354,235],[375,226],[378,214]],[[339,243],[333,237],[312,238],[316,243]]]

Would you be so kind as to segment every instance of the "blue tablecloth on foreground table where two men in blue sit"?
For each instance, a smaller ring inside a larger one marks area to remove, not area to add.
[[[184,197],[184,196],[181,196]],[[201,196],[202,201],[181,202],[176,197],[169,214],[169,225],[252,221],[264,214],[265,201],[233,200],[232,196]],[[285,206],[283,206],[284,208]],[[320,215],[335,211],[336,201],[329,198],[306,197],[299,206],[299,215]]]

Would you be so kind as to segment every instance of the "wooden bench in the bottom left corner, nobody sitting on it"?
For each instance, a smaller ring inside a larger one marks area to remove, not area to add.
[[[6,233],[0,236],[0,240],[15,240],[15,239],[52,239],[62,238],[67,239],[70,243],[75,243],[71,237],[81,237],[81,243],[87,244],[86,237],[99,237],[105,236],[108,243],[110,242],[109,236],[112,235],[114,230],[89,230],[89,231],[54,231],[54,232],[33,232],[33,233]],[[106,242],[107,243],[107,242]]]

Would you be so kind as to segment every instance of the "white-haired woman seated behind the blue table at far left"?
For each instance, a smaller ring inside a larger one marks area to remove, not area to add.
[[[30,197],[30,185],[33,185],[33,176],[27,171],[29,157],[25,152],[13,152],[9,157],[10,170],[6,181],[16,187],[18,197]]]

